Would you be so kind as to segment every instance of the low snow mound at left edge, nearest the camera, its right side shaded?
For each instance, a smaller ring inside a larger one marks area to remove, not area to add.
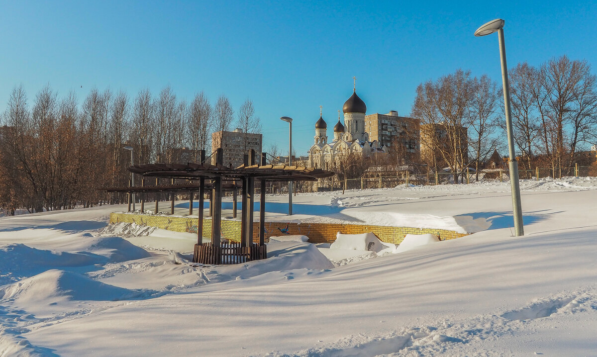
[[[115,301],[139,295],[138,291],[57,269],[0,288],[0,301],[9,301],[25,309],[68,300]]]

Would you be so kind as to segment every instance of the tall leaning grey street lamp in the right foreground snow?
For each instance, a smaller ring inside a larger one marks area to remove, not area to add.
[[[524,235],[522,224],[521,191],[518,184],[518,161],[514,153],[514,136],[512,134],[512,109],[510,109],[510,86],[508,84],[508,67],[506,65],[506,45],[504,45],[504,20],[491,20],[475,31],[475,36],[485,36],[497,32],[500,43],[501,81],[504,86],[504,107],[506,109],[506,132],[508,136],[508,167],[510,169],[510,189],[512,190],[512,211],[516,236]]]

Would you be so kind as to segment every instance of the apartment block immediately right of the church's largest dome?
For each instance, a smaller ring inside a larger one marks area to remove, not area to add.
[[[387,114],[365,115],[365,131],[369,133],[369,140],[377,140],[390,152],[403,150],[413,159],[418,158],[420,148],[417,119],[399,116],[395,110],[390,110]]]

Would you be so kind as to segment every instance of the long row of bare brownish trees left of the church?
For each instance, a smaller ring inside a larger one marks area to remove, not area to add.
[[[30,103],[21,85],[1,123],[0,208],[8,214],[121,202],[124,195],[97,188],[128,184],[125,146],[133,147],[135,164],[196,162],[201,150],[211,152],[213,131],[233,124],[245,133],[261,130],[250,99],[235,116],[224,95],[213,104],[204,92],[186,101],[170,87],[157,96],[143,89],[134,99],[92,88],[79,103],[73,91],[59,97],[47,85]]]

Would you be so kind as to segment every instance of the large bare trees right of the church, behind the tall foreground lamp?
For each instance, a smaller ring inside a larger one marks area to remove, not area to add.
[[[548,165],[556,175],[571,174],[578,152],[597,142],[597,77],[590,64],[561,56],[536,67],[519,63],[508,76],[519,167]],[[503,90],[487,75],[458,69],[421,83],[411,115],[420,120],[421,161],[449,167],[456,182],[458,172],[478,170],[506,146]]]

